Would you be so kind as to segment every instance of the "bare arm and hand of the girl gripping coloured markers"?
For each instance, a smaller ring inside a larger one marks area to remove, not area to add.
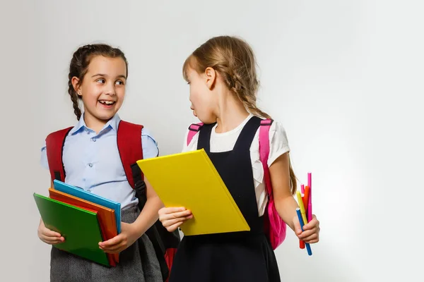
[[[277,212],[281,219],[295,231],[298,238],[306,243],[317,243],[319,240],[319,221],[315,216],[313,216],[312,221],[303,227],[303,232],[300,229],[298,215],[296,214],[298,202],[295,201],[290,192],[289,167],[288,152],[278,157],[269,167]]]

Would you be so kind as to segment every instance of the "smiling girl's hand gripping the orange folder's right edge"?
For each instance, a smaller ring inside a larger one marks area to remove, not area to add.
[[[109,254],[117,254],[134,244],[134,242],[136,242],[136,240],[140,237],[136,228],[134,228],[134,225],[131,223],[122,222],[121,228],[121,233],[114,236],[114,238],[100,242],[100,249]]]

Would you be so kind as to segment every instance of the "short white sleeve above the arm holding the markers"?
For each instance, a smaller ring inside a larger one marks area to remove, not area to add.
[[[269,158],[268,166],[278,159],[282,154],[290,152],[287,134],[281,123],[274,121],[269,128]]]

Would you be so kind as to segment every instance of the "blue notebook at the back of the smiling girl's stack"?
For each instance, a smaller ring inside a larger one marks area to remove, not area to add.
[[[117,220],[117,233],[121,233],[121,203],[107,200],[104,197],[100,197],[93,193],[87,192],[81,188],[77,188],[73,185],[61,182],[59,180],[53,180],[54,189],[72,195],[74,197],[81,198],[83,200],[100,204],[100,206],[114,209],[114,214]]]

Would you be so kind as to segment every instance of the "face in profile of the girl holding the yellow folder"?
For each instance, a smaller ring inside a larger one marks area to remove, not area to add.
[[[207,75],[199,75],[192,68],[187,69],[187,80],[190,85],[190,102],[194,116],[203,123],[216,122],[215,109],[217,105],[216,94],[211,90]]]

